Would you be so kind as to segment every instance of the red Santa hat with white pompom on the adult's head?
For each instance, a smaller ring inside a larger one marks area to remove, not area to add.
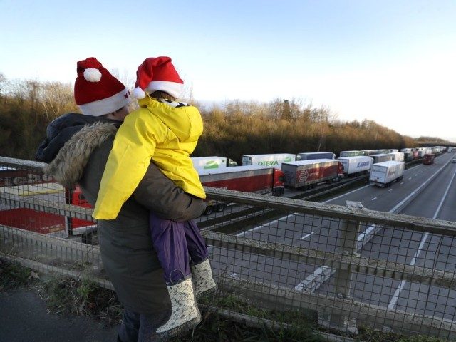
[[[128,105],[130,93],[95,57],[78,61],[74,98],[83,114],[100,116]]]

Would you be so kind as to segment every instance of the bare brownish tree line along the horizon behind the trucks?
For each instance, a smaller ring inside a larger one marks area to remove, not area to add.
[[[296,99],[232,100],[212,107],[187,100],[204,120],[192,156],[230,157],[239,165],[246,154],[400,149],[418,141],[373,120],[338,120],[328,108]],[[46,125],[68,112],[79,112],[71,83],[9,81],[0,73],[0,155],[33,160]]]

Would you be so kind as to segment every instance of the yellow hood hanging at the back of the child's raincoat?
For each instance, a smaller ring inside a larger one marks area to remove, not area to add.
[[[186,103],[144,98],[138,101],[170,128],[180,142],[197,142],[203,122],[198,108]]]

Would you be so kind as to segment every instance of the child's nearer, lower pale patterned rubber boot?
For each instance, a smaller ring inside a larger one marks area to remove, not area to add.
[[[157,328],[156,333],[160,337],[171,338],[195,328],[201,322],[201,313],[195,301],[192,278],[167,286],[167,290],[170,294],[172,313],[170,319]]]

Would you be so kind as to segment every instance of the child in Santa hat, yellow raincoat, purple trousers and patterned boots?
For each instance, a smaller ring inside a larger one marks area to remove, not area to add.
[[[190,159],[202,134],[202,118],[197,108],[175,102],[183,81],[171,58],[146,58],[136,75],[133,96],[140,108],[125,118],[115,135],[93,212],[95,219],[117,217],[150,160],[185,192],[206,197]],[[171,317],[157,333],[169,337],[199,323],[195,295],[215,289],[216,284],[207,246],[195,222],[173,222],[150,213],[150,231],[172,303]]]

